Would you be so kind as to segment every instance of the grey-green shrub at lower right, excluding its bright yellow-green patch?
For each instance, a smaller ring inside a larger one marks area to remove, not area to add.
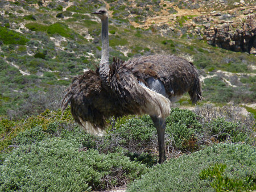
[[[210,181],[200,180],[203,169],[216,163],[226,164],[224,176],[228,176],[230,180],[248,181],[247,176],[255,176],[255,158],[255,148],[249,145],[214,145],[156,165],[141,180],[131,183],[127,191],[214,191]],[[251,181],[253,180],[250,179],[250,185],[255,187],[255,182]],[[227,189],[233,188],[227,186]]]

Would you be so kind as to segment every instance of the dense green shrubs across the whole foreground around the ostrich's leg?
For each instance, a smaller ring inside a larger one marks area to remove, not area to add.
[[[159,187],[186,190],[191,186],[195,190],[255,189],[255,122],[252,117],[241,115],[239,109],[204,106],[198,107],[196,113],[172,109],[167,118],[165,139],[167,157],[171,159],[156,167],[157,136],[148,115],[112,119],[108,134],[103,137],[82,131],[73,122],[70,110],[62,116],[60,111],[46,110],[18,121],[2,119],[0,132],[5,138],[0,145],[0,189],[105,190],[139,179],[145,173],[129,190],[147,191],[145,186],[151,186],[151,190]],[[209,114],[209,110],[215,115],[200,116]],[[234,116],[229,114],[232,110]],[[228,144],[216,145],[218,143]],[[185,155],[199,150],[191,156]],[[210,166],[215,162],[228,167],[219,178],[223,177],[228,184],[214,184],[219,182],[213,180],[214,176],[200,175],[200,172],[207,172],[203,168],[212,169]],[[159,181],[148,185],[152,177]],[[180,180],[182,185],[172,180]],[[228,187],[229,182],[234,183],[234,188]],[[237,186],[240,182],[247,182],[247,188]]]

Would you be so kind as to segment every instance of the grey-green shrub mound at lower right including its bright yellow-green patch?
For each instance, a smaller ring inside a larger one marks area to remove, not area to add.
[[[127,191],[253,191],[254,158],[248,145],[214,145],[155,166]]]

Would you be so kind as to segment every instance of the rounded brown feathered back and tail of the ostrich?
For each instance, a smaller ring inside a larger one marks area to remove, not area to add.
[[[142,56],[125,62],[135,77],[147,85],[147,78],[158,78],[163,82],[169,98],[188,91],[192,102],[201,97],[201,84],[195,65],[171,55]]]

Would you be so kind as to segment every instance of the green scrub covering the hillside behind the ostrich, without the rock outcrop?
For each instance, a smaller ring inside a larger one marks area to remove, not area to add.
[[[111,11],[110,58],[117,56],[127,60],[133,56],[163,52],[181,56],[193,61],[200,69],[201,77],[206,77],[203,86],[205,101],[255,102],[255,76],[251,75],[255,72],[252,68],[255,57],[212,47],[203,40],[203,34],[189,33],[186,23],[191,22],[195,15],[177,16],[173,30],[166,24],[152,23],[143,28],[130,23],[141,24],[145,19],[160,16],[162,11],[175,14],[175,9],[197,9],[199,5],[183,1],[174,1],[175,6],[159,4],[158,1],[136,1],[135,4],[127,1],[126,6],[118,1],[107,2]],[[70,3],[68,6],[57,1],[45,4],[41,1],[1,2],[1,116],[20,118],[43,112],[52,102],[44,93],[64,90],[73,76],[98,65],[101,24],[88,13],[103,3],[90,0]],[[232,8],[232,3],[228,4],[221,9]],[[200,6],[207,7],[208,2],[201,2]],[[36,95],[41,95],[44,102],[35,98]],[[181,105],[189,105],[187,96],[182,101]],[[40,107],[23,110],[24,105]]]

